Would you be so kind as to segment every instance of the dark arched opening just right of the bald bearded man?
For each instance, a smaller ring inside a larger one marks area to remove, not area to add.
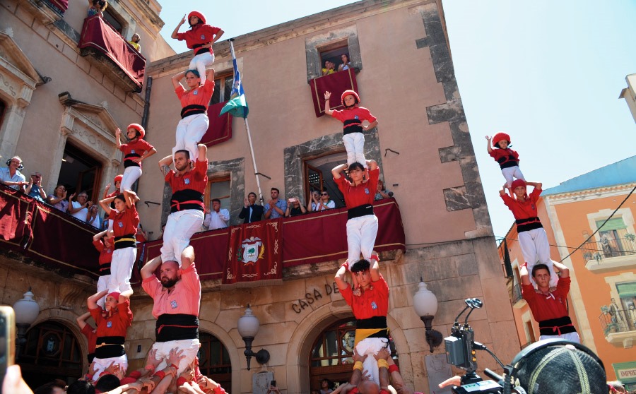
[[[232,393],[232,363],[228,350],[214,335],[199,331],[199,369],[201,374],[219,383],[223,389]]]

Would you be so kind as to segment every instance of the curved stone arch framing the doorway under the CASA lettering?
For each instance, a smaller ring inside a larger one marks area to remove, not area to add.
[[[286,356],[287,376],[298,376],[299,379],[298,381],[289,382],[288,393],[310,392],[309,365],[307,362],[310,358],[314,339],[331,324],[348,317],[353,318],[351,308],[344,301],[336,301],[320,306],[300,322],[288,342]],[[413,366],[411,366],[406,336],[398,322],[390,315],[387,316],[387,325],[389,330],[391,330],[395,346],[399,350],[399,357],[401,359],[404,357],[404,367],[401,366],[401,370],[404,370],[407,376],[413,376]],[[298,386],[293,386],[293,384],[298,384]]]

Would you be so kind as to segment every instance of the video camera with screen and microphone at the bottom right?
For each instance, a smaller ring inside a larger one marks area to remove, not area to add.
[[[461,386],[454,386],[452,388],[452,392],[455,394],[500,394],[502,393],[502,386],[498,382],[503,381],[501,376],[486,368],[484,370],[485,374],[490,378],[496,379],[496,381],[484,381],[475,373],[477,370],[476,350],[485,350],[490,353],[497,363],[499,363],[502,368],[504,367],[493,352],[490,352],[490,350],[482,343],[475,342],[475,333],[468,323],[468,318],[471,316],[473,310],[481,308],[483,306],[483,302],[476,298],[468,298],[465,299],[464,302],[466,302],[466,307],[459,312],[459,315],[455,318],[455,322],[451,328],[451,335],[444,338],[447,362],[466,370],[466,374],[461,376]],[[471,311],[466,314],[464,324],[461,324],[459,323],[459,316],[464,314],[467,309],[471,309]]]

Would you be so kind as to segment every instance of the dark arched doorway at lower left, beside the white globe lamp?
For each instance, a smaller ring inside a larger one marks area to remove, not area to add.
[[[30,387],[54,379],[76,381],[82,376],[81,347],[73,332],[54,321],[31,328],[18,357],[22,376]]]

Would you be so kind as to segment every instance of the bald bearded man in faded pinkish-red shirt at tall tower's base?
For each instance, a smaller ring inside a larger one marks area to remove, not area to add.
[[[205,157],[205,156],[204,156]],[[141,268],[141,287],[154,301],[153,316],[156,340],[152,349],[162,362],[155,368],[161,371],[167,365],[170,350],[182,350],[185,357],[177,366],[177,376],[192,364],[199,352],[199,305],[201,282],[194,267],[194,249],[187,246],[177,261],[164,261],[155,257]],[[155,271],[160,268],[159,280]]]

